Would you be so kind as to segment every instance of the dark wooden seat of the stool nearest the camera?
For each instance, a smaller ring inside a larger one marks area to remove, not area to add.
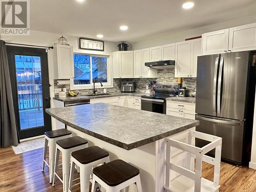
[[[93,169],[93,174],[109,186],[117,186],[139,175],[139,173],[140,171],[138,168],[120,159],[111,161]]]

